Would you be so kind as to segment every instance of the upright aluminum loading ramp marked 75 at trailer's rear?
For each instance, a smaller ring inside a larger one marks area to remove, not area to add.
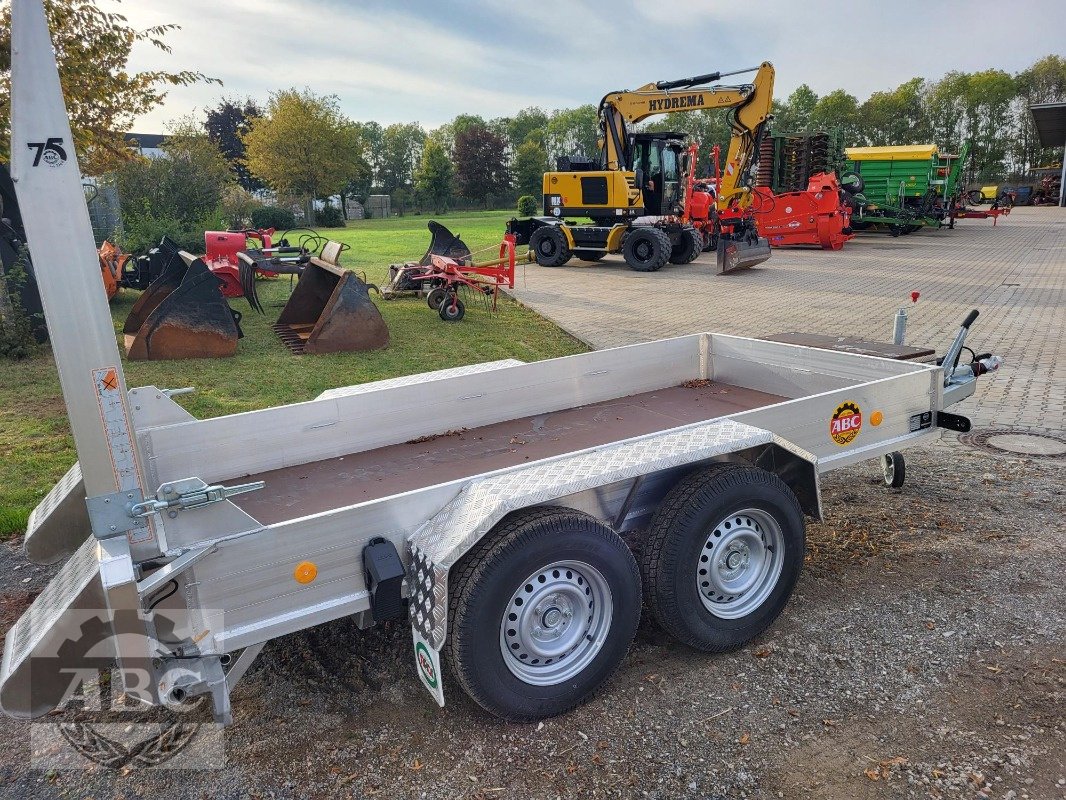
[[[11,117],[12,178],[86,495],[140,491],[122,361],[41,0],[12,6]]]

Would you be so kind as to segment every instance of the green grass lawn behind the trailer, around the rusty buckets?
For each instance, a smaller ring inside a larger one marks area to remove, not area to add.
[[[507,211],[458,213],[437,219],[459,234],[471,251],[499,246]],[[430,217],[350,223],[322,231],[352,245],[341,263],[384,282],[388,265],[421,257],[430,241]],[[495,254],[494,254],[495,255]],[[488,256],[484,256],[488,257]],[[220,361],[129,362],[129,386],[195,386],[179,399],[197,417],[212,417],[310,400],[334,386],[376,381],[431,369],[497,358],[538,361],[585,351],[543,317],[504,300],[497,314],[468,304],[458,323],[441,322],[425,301],[377,300],[392,336],[386,350],[371,353],[293,356],[271,331],[289,293],[288,278],[262,281],[260,316],[244,300],[230,301],[244,315],[237,355]],[[139,292],[124,290],[111,304],[116,335]],[[122,342],[119,341],[122,351]],[[77,455],[50,352],[25,362],[0,363],[0,538],[21,534],[30,511],[70,467]]]

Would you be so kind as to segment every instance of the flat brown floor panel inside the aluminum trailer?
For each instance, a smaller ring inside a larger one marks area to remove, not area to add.
[[[729,383],[688,381],[549,414],[235,476],[235,481],[265,481],[270,492],[241,495],[233,501],[259,522],[272,525],[787,399]]]

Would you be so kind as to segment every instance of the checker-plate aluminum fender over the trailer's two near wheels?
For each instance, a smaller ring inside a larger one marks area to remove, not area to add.
[[[451,567],[507,514],[567,495],[733,454],[785,473],[805,509],[818,510],[817,459],[770,431],[732,419],[546,459],[470,481],[411,534],[408,594],[419,677],[443,705],[440,650],[448,630]],[[806,463],[804,467],[801,462]]]

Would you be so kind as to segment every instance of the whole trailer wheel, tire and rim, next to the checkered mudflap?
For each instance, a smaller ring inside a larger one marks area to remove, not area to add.
[[[640,623],[641,576],[618,534],[594,517],[527,509],[452,569],[449,605],[445,655],[459,686],[486,710],[532,722],[581,705],[614,674]],[[574,610],[581,617],[567,617]],[[572,649],[546,658],[553,647]]]

